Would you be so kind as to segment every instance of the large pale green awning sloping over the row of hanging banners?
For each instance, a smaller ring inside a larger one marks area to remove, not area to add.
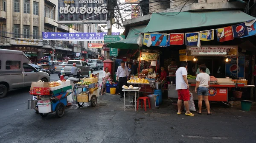
[[[255,17],[240,10],[154,13],[143,33],[236,24],[253,19]]]

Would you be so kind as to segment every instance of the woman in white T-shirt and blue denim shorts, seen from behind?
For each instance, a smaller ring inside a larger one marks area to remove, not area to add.
[[[198,114],[202,114],[202,102],[204,96],[204,102],[207,108],[207,115],[212,115],[210,112],[210,104],[208,100],[209,95],[209,85],[210,85],[210,76],[205,73],[206,66],[204,64],[199,66],[200,73],[196,77],[196,86],[195,86],[195,93],[198,94]]]

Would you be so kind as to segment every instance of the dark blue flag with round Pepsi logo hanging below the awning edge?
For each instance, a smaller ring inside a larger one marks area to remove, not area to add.
[[[232,30],[234,38],[240,38],[248,35],[248,29],[247,26],[245,26],[245,23],[233,25]]]

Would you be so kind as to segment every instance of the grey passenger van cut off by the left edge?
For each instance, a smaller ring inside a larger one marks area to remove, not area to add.
[[[48,73],[36,69],[22,51],[0,49],[0,98],[8,90],[30,87],[32,81],[50,81]]]

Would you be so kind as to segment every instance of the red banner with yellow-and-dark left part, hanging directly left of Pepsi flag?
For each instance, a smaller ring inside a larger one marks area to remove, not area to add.
[[[228,26],[225,28],[216,29],[218,42],[230,41],[234,39],[232,27]]]

